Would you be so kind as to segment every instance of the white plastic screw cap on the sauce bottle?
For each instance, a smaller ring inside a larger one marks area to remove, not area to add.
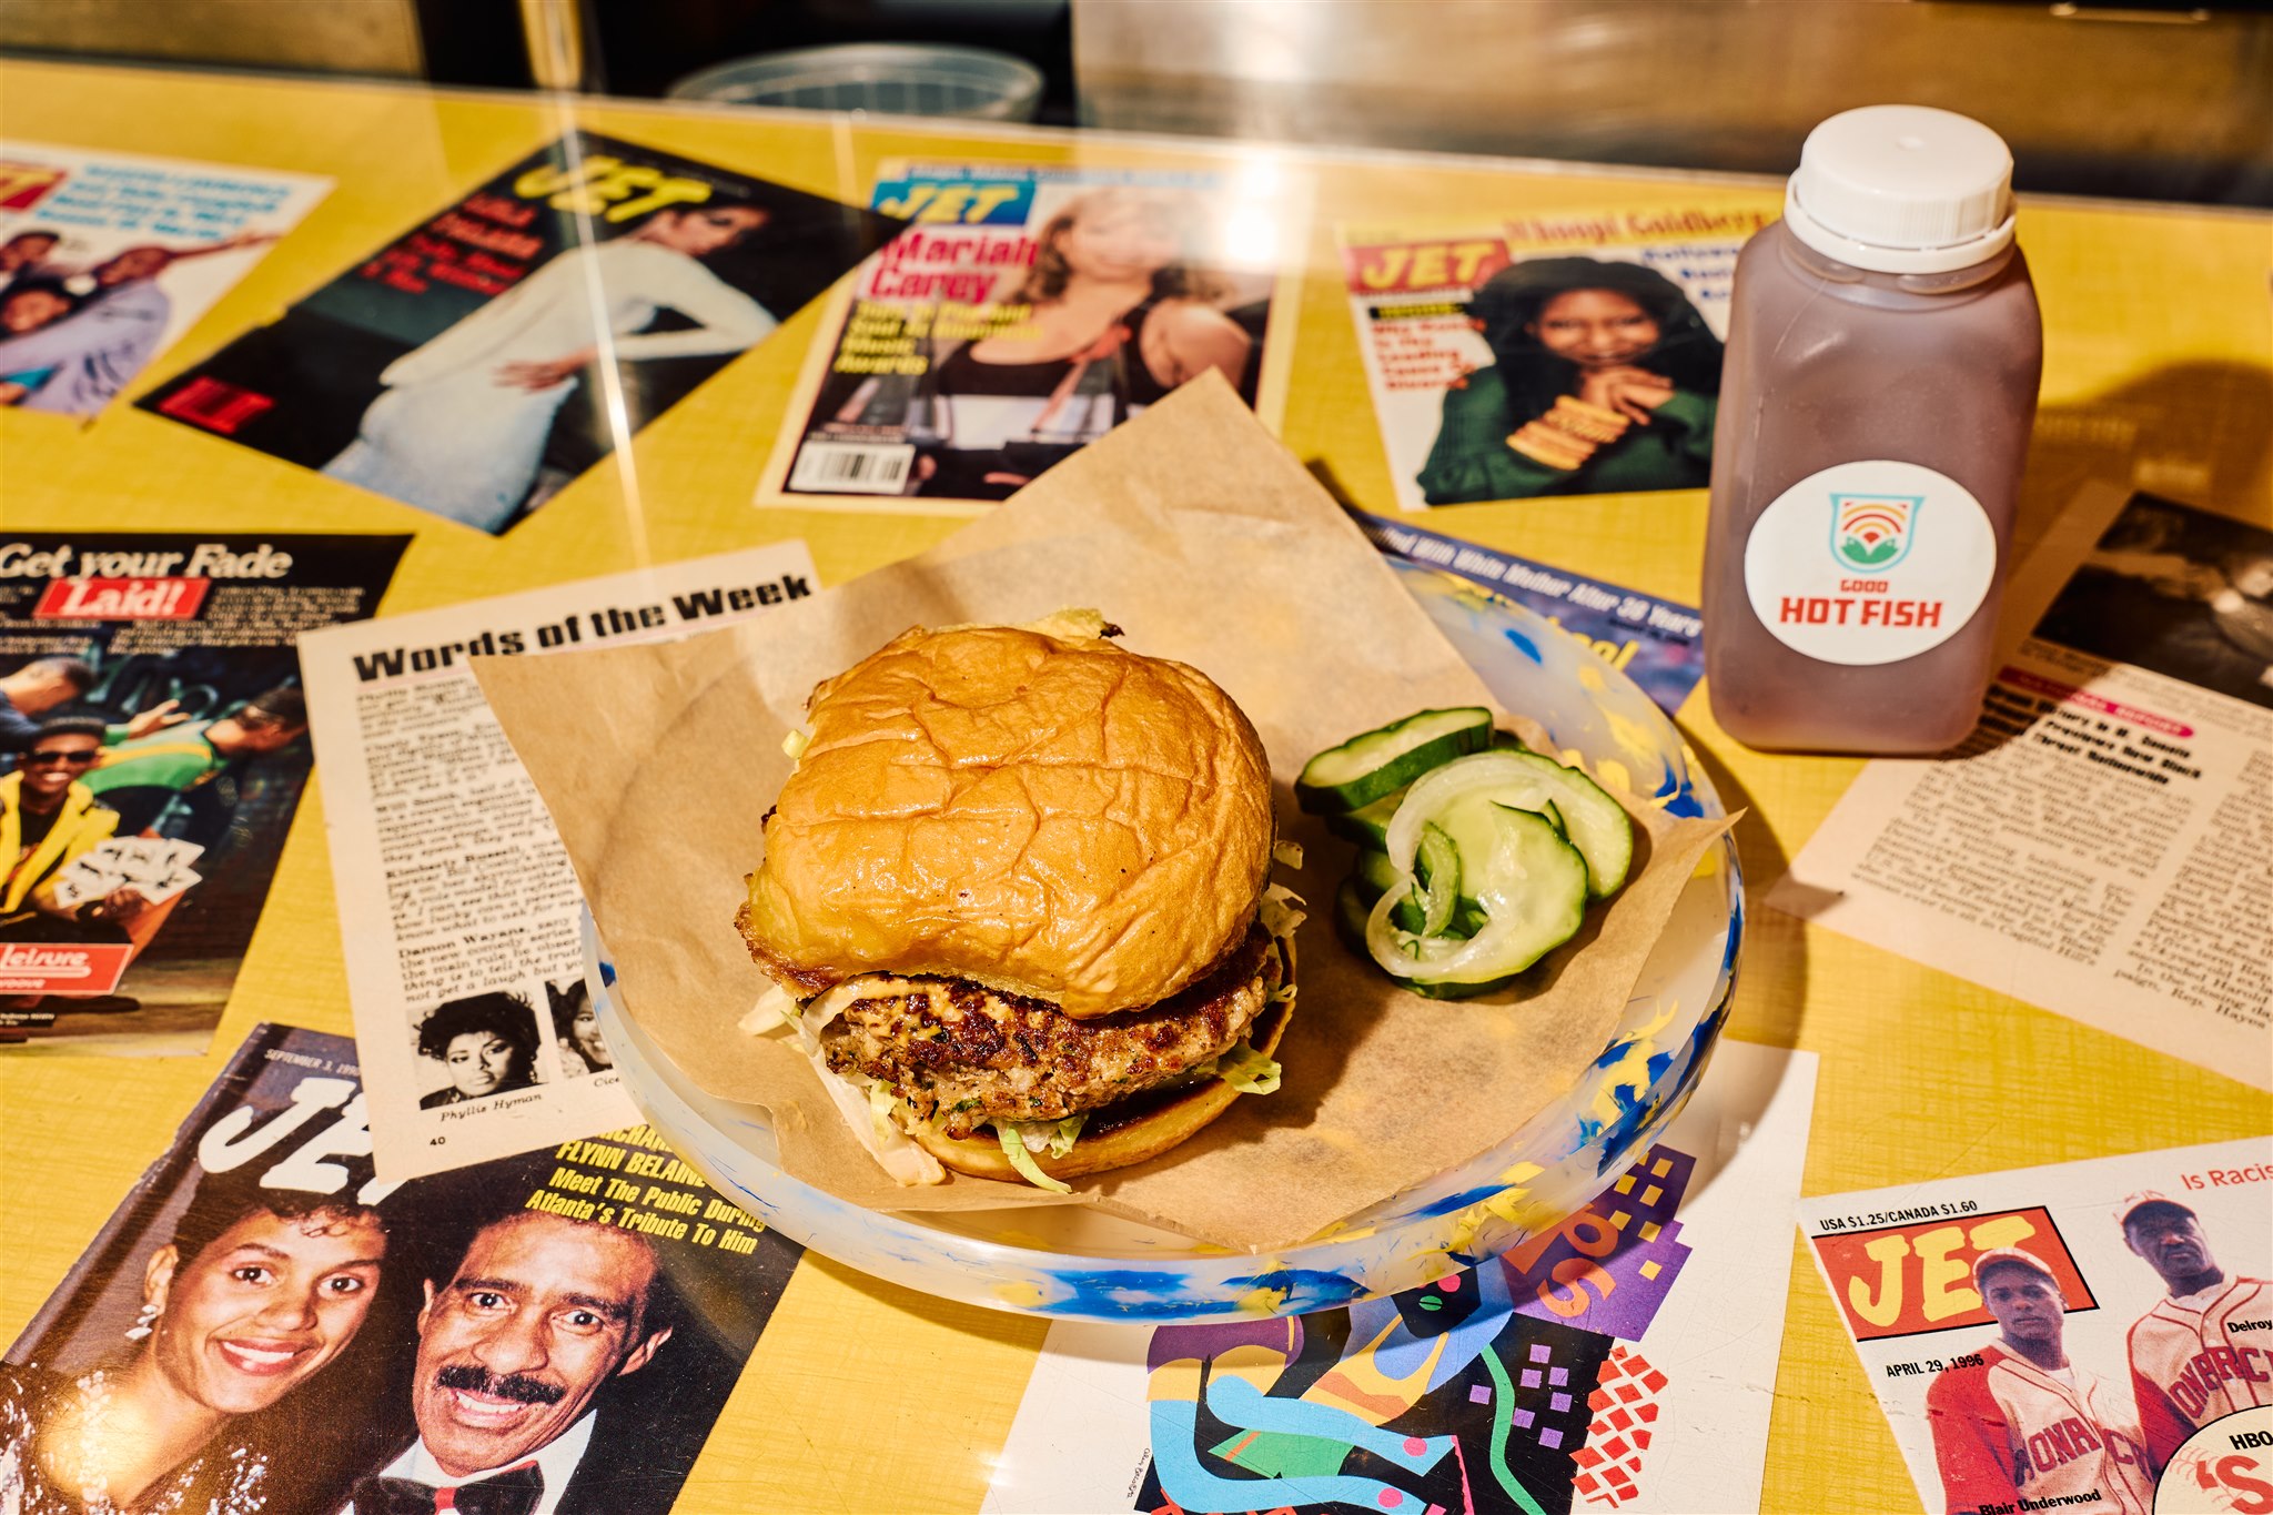
[[[1955,111],[1841,111],[1807,134],[1784,225],[1871,273],[1971,268],[2012,245],[2012,150]]]

